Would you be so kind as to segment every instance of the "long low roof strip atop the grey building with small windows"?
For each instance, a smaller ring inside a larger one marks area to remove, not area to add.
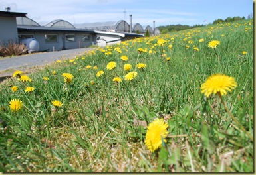
[[[45,27],[45,26],[25,26],[17,25],[18,31],[37,31],[37,32],[88,32],[94,33],[94,30],[87,29],[71,29],[61,27]]]

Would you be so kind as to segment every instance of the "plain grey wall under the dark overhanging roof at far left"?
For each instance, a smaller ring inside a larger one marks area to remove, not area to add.
[[[16,17],[0,17],[0,44],[18,42]]]

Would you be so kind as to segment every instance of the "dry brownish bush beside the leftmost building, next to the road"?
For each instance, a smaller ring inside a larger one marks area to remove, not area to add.
[[[23,43],[16,44],[10,42],[7,45],[0,45],[0,56],[17,56],[21,54],[27,54],[27,47]]]

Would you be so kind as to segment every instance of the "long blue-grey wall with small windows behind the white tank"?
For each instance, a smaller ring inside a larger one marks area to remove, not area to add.
[[[47,42],[45,36],[57,36],[57,41]],[[66,35],[74,35],[74,41],[66,42]],[[39,42],[39,51],[57,51],[72,48],[89,47],[94,39],[92,34],[88,33],[68,33],[68,32],[19,32],[19,36],[33,36]],[[84,41],[84,36],[88,36],[88,40]]]

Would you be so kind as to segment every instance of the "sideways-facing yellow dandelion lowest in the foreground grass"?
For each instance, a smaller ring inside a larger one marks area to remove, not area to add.
[[[166,136],[168,135],[168,124],[164,123],[164,119],[156,119],[147,127],[145,138],[145,145],[151,152],[154,152],[162,146],[162,139],[166,143]]]

